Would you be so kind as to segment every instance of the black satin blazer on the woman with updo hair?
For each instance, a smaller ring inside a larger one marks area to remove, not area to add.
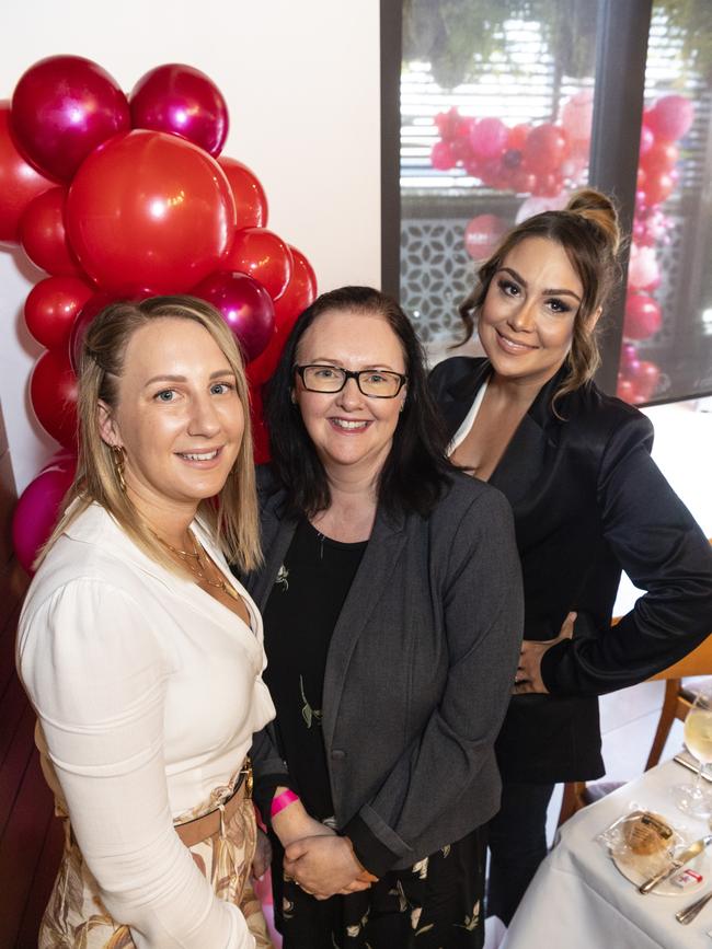
[[[468,357],[433,370],[451,436],[490,372]],[[564,373],[541,389],[490,478],[515,514],[525,638],[550,639],[578,613],[573,640],[542,662],[551,695],[509,704],[497,760],[510,780],[600,776],[595,696],[665,669],[712,629],[712,553],[651,459],[651,421],[593,383],[556,402],[559,418],[551,400]],[[611,627],[621,569],[647,592]]]

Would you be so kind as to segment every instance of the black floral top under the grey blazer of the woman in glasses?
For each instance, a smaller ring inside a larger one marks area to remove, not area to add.
[[[367,543],[332,541],[305,518],[264,611],[264,680],[277,710],[279,752],[318,820],[334,813],[321,730],[326,656]]]

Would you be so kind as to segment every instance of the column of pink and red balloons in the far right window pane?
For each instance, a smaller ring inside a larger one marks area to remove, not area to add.
[[[680,157],[677,142],[690,130],[693,119],[694,105],[681,95],[662,96],[643,113],[617,389],[625,402],[648,402],[659,384],[659,367],[640,359],[638,344],[655,335],[663,325],[663,311],[654,297],[661,285],[657,247],[669,243],[673,222],[662,205],[677,187]]]

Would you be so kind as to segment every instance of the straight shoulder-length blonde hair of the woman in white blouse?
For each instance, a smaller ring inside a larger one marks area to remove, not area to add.
[[[234,373],[238,397],[244,415],[242,443],[228,478],[217,497],[202,500],[198,516],[214,533],[230,563],[251,570],[262,562],[260,519],[255,487],[250,425],[250,397],[240,349],[220,314],[194,297],[152,297],[141,303],[112,303],[93,320],[81,355],[79,371],[79,461],[77,475],[65,497],[65,513],[44,545],[35,566],[67,528],[93,504],[100,504],[151,559],[172,570],[185,570],[174,563],[122,489],[112,448],[99,427],[99,404],[110,409],[118,401],[118,382],[124,371],[126,348],[137,329],[153,320],[190,320],[210,334]],[[72,504],[74,502],[74,504]],[[71,508],[69,506],[71,505]]]

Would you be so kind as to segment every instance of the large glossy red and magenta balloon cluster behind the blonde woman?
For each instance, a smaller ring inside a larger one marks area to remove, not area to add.
[[[0,241],[20,244],[48,275],[25,302],[27,327],[46,347],[31,401],[70,452],[89,323],[116,300],[190,292],[217,306],[243,350],[256,454],[267,456],[256,390],[317,279],[303,254],[267,229],[255,174],[220,154],[228,128],[219,89],[180,63],[151,69],[126,95],[97,63],[51,56],[0,103]],[[21,498],[15,544],[25,566],[56,519],[68,471],[43,472]]]

